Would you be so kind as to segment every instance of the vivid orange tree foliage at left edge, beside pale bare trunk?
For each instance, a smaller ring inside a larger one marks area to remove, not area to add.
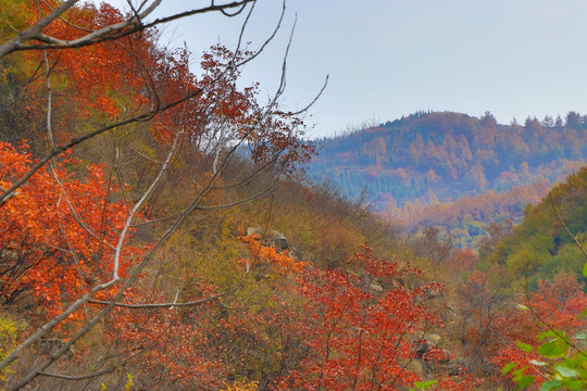
[[[0,143],[3,188],[32,164],[28,153]],[[39,311],[33,315],[51,317],[98,281],[110,279],[113,247],[127,216],[124,203],[108,201],[115,192],[100,166],[89,166],[84,179],[59,163],[50,173],[41,169],[33,176],[0,209],[3,300],[15,302],[33,292]],[[123,252],[123,269],[134,251]]]

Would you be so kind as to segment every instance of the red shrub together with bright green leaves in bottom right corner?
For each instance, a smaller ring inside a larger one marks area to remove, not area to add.
[[[516,383],[533,383],[529,389],[584,388],[585,353],[579,343],[587,297],[583,285],[560,274],[552,281],[539,281],[538,290],[520,301],[525,304],[511,308],[503,320],[502,332],[510,343],[502,344],[491,360]]]

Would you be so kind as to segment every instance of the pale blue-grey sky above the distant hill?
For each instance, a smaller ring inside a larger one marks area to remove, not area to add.
[[[158,15],[188,4],[210,1],[163,0]],[[250,48],[271,35],[280,10],[279,0],[258,1],[245,30]],[[282,104],[305,106],[329,77],[305,117],[312,138],[420,110],[489,111],[504,124],[587,114],[585,15],[585,0],[288,0],[282,28],[242,84],[259,81],[262,99],[274,92],[296,22]],[[166,25],[161,40],[186,42],[197,64],[212,45],[234,48],[243,18],[191,16]]]

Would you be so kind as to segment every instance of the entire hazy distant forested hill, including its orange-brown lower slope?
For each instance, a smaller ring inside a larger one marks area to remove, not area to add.
[[[351,198],[366,195],[410,231],[440,226],[474,247],[491,222],[520,222],[586,156],[587,118],[575,112],[524,125],[421,112],[320,140],[311,173]]]

